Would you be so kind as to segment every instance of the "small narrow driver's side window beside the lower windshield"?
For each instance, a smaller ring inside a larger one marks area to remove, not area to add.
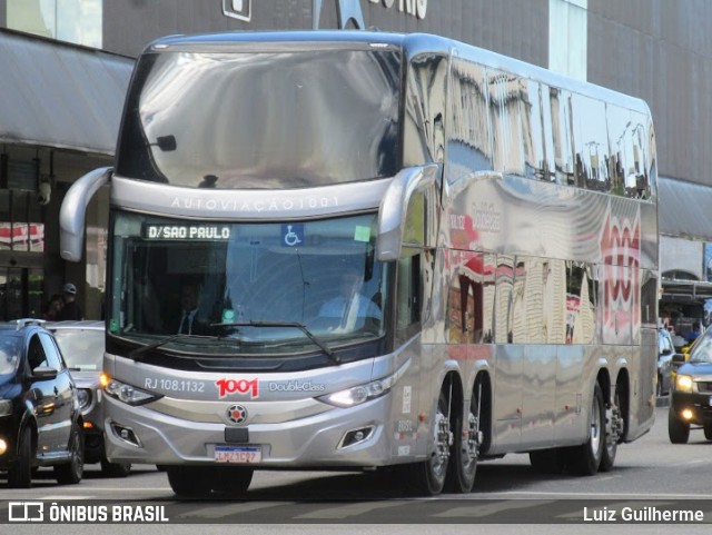
[[[421,325],[421,255],[398,260],[396,278],[396,340],[402,343]]]

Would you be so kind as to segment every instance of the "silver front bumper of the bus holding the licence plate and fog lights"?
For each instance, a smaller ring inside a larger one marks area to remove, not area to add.
[[[372,467],[416,458],[418,433],[393,433],[384,424],[389,394],[355,407],[325,405],[307,417],[246,426],[187,420],[109,396],[105,403],[107,456],[115,463],[214,464],[225,460],[226,450],[236,452],[230,458],[238,463],[249,458],[255,468]]]

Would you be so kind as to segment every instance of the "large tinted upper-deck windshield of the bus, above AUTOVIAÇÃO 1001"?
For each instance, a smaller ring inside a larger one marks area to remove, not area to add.
[[[397,172],[399,52],[146,55],[117,174],[172,186],[303,188]]]

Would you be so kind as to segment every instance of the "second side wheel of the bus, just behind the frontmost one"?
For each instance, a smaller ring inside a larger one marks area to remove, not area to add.
[[[447,465],[448,492],[468,493],[475,484],[477,457],[479,455],[479,409],[477,386],[472,393],[472,400],[466,414],[457,415]]]

